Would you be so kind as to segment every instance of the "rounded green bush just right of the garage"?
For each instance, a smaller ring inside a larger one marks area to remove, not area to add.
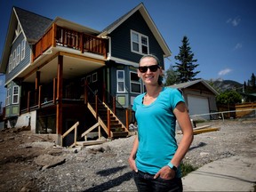
[[[217,97],[216,101],[218,104],[236,104],[241,103],[242,96],[233,90],[221,92]]]

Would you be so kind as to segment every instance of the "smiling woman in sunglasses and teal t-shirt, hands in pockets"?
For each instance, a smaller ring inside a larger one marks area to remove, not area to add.
[[[182,191],[180,162],[193,140],[193,130],[184,99],[177,89],[163,87],[163,71],[154,55],[140,59],[138,76],[147,92],[132,109],[138,124],[129,164],[139,191]],[[176,119],[183,137],[178,147]]]

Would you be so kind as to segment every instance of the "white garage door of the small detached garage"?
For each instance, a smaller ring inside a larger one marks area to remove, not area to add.
[[[208,98],[195,96],[195,95],[188,95],[188,110],[189,115],[200,115],[200,114],[209,114],[209,103]],[[201,116],[204,119],[209,120],[210,116]]]

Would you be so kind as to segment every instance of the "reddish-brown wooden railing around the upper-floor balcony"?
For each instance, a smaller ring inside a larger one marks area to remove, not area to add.
[[[56,24],[42,36],[33,47],[33,61],[42,55],[51,46],[56,45],[79,50],[80,52],[92,52],[107,55],[107,39],[80,33],[68,28],[62,28]]]

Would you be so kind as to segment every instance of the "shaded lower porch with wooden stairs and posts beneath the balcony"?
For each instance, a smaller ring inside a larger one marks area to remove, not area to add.
[[[124,109],[105,86],[95,91],[86,80],[84,84],[77,84],[78,81],[73,79],[64,83],[66,88],[61,92],[63,96],[60,100],[56,82],[57,79],[54,79],[52,85],[40,85],[38,90],[28,91],[21,98],[20,114],[36,111],[36,133],[60,135],[58,142],[64,146],[87,141],[91,132],[99,132],[108,139],[128,136],[132,110]],[[67,89],[70,84],[74,86]],[[60,103],[61,108],[58,109]],[[61,120],[58,120],[58,116],[61,116]],[[58,124],[62,124],[61,127]],[[99,125],[93,127],[95,124]]]

